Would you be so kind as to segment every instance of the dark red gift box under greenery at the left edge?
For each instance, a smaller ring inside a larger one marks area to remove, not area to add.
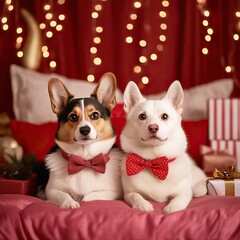
[[[34,195],[36,193],[36,174],[32,174],[27,180],[8,179],[0,174],[0,194],[2,193]]]

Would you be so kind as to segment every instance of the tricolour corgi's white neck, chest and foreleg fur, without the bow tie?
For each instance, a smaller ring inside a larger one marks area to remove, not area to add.
[[[115,138],[89,145],[66,144],[57,142],[66,152],[92,158],[99,153],[108,153]],[[112,200],[122,197],[120,180],[120,161],[122,153],[117,149],[110,151],[110,160],[104,174],[92,169],[83,169],[76,174],[69,175],[67,160],[57,151],[49,154],[46,164],[50,169],[50,178],[46,188],[47,199],[61,208],[79,207],[79,200]]]

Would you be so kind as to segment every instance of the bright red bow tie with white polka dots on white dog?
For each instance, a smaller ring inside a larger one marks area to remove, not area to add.
[[[128,154],[126,161],[126,171],[128,176],[138,174],[143,169],[148,168],[159,179],[164,180],[168,175],[168,163],[175,158],[158,157],[153,160],[144,160],[135,154]]]

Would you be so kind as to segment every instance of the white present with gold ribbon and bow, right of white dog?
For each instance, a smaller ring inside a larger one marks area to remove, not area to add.
[[[240,173],[233,166],[225,171],[215,169],[213,178],[207,179],[207,189],[209,195],[240,196]]]

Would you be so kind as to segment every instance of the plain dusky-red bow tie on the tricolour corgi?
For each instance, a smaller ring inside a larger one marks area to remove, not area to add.
[[[106,163],[109,161],[110,157],[108,154],[98,154],[97,156],[84,160],[83,158],[76,156],[74,154],[67,154],[62,152],[62,156],[68,160],[68,173],[74,174],[81,171],[84,168],[92,168],[97,172],[105,173]]]

